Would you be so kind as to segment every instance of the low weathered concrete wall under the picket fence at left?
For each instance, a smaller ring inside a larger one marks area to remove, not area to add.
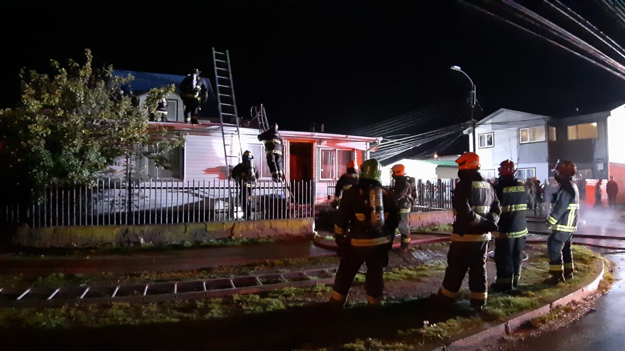
[[[211,239],[312,237],[314,219],[272,219],[153,225],[89,225],[17,228],[13,244],[27,247],[98,247],[106,244],[177,244]]]

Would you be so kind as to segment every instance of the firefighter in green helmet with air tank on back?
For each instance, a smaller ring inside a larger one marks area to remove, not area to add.
[[[379,305],[384,292],[382,273],[388,264],[399,209],[391,194],[380,184],[382,165],[376,159],[362,162],[358,183],[341,198],[334,220],[334,235],[341,263],[330,298],[332,307],[342,308],[354,276],[367,263],[364,289],[367,304]]]

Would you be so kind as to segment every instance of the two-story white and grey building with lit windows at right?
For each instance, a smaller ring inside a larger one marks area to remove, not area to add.
[[[624,104],[562,118],[499,109],[477,122],[476,152],[485,178],[497,177],[499,163],[511,159],[519,179],[544,182],[557,161],[566,159],[576,164],[582,180],[613,176],[625,184],[624,128]],[[471,145],[471,129],[464,132]],[[625,194],[619,194],[619,201],[625,201]]]

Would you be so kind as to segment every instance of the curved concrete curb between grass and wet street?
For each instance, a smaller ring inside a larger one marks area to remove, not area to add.
[[[571,294],[561,297],[560,299],[557,299],[556,301],[551,302],[550,304],[539,307],[538,309],[535,309],[535,310],[526,312],[522,315],[519,315],[517,317],[514,317],[501,324],[488,327],[487,329],[482,330],[481,332],[477,332],[476,334],[470,335],[468,337],[464,337],[459,340],[455,340],[454,342],[451,342],[451,344],[449,345],[446,345],[443,347],[436,347],[436,349],[432,349],[432,351],[434,350],[436,351],[437,350],[473,351],[476,348],[483,346],[486,340],[492,340],[496,338],[499,339],[499,338],[505,337],[506,335],[510,335],[514,333],[517,329],[519,329],[519,327],[521,327],[522,324],[536,317],[540,317],[542,315],[548,314],[549,311],[551,311],[551,309],[553,309],[554,307],[569,304],[569,302],[572,302],[574,300],[581,300],[584,297],[587,297],[587,295],[590,295],[596,292],[597,288],[599,287],[599,282],[601,282],[601,280],[603,279],[604,269],[605,269],[604,264],[603,262],[601,262],[601,272],[599,272],[599,275],[597,275],[597,277],[594,280],[592,280],[590,284],[587,284],[586,286],[581,287],[580,289],[576,290],[575,292],[572,292]]]

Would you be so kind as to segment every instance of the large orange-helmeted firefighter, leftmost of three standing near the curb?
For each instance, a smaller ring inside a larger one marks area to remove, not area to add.
[[[491,232],[498,229],[501,207],[492,185],[479,174],[479,156],[465,152],[456,160],[459,182],[452,195],[456,219],[452,225],[447,269],[437,301],[451,304],[469,270],[469,302],[476,311],[486,304],[486,249]]]

